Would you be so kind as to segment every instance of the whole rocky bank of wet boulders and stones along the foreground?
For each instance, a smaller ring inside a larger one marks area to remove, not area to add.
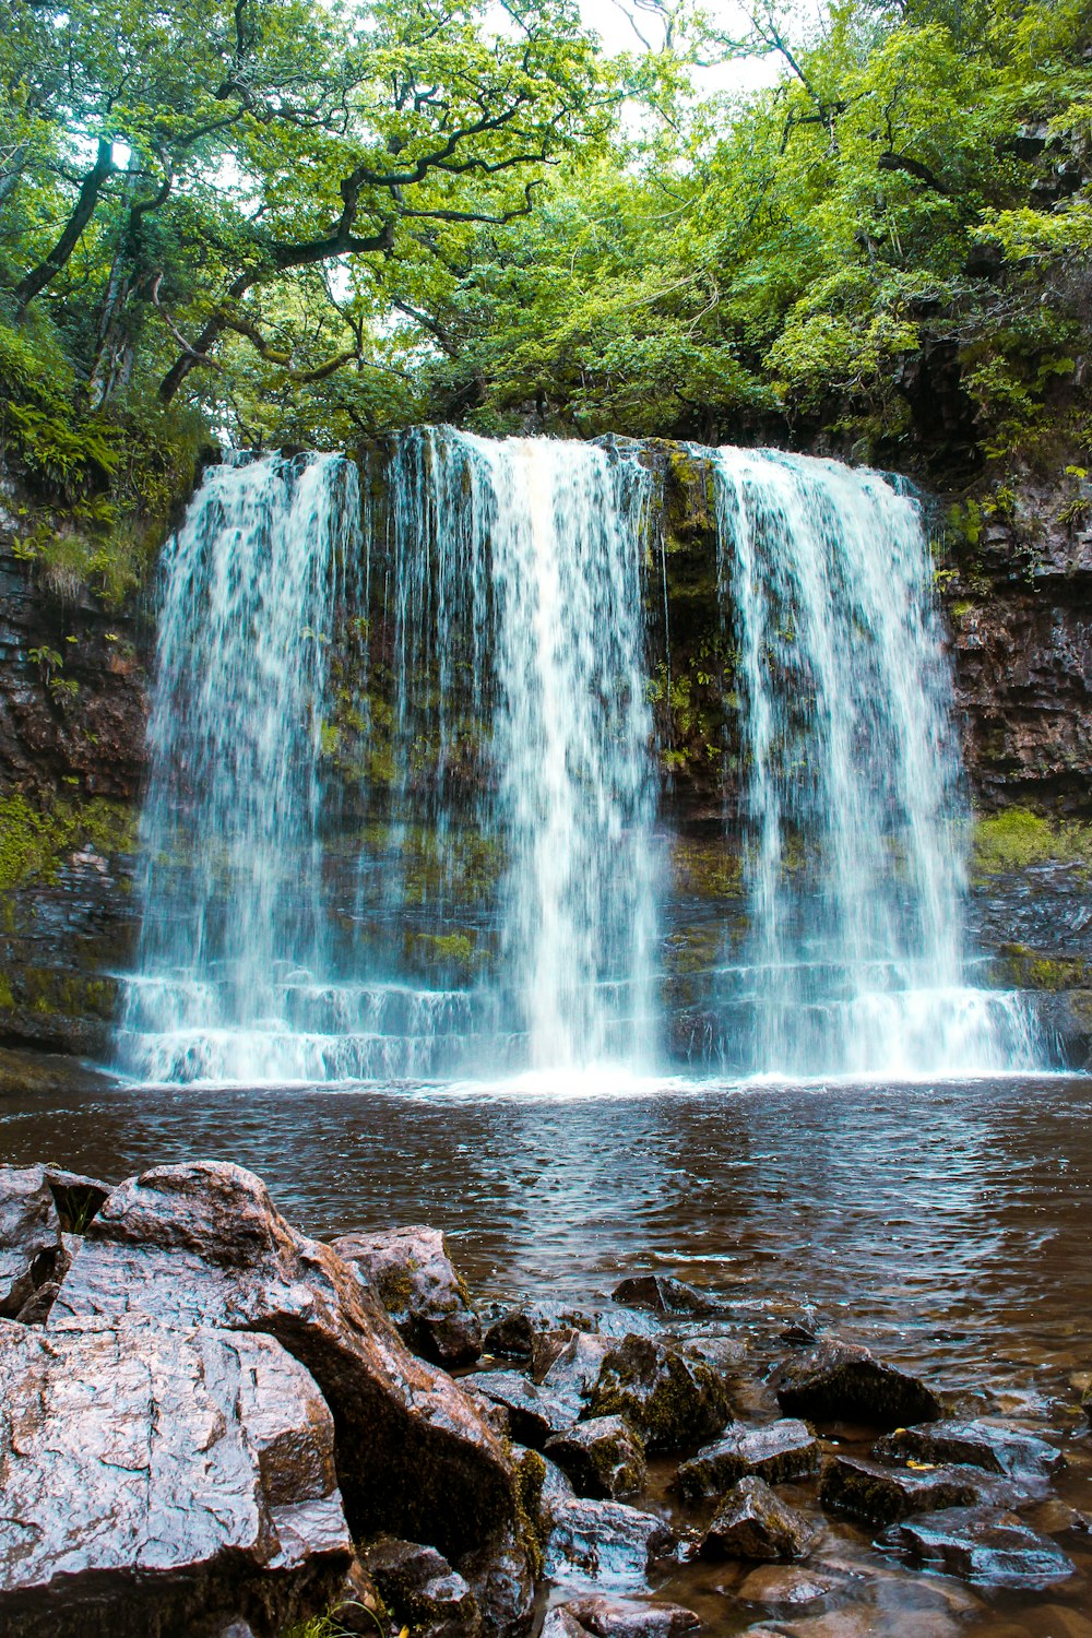
[[[1087,1394],[1045,1425],[809,1307],[475,1305],[439,1233],[321,1245],[196,1161],[0,1171],[0,1315],[13,1638],[850,1638],[878,1586],[930,1638],[1084,1633]]]

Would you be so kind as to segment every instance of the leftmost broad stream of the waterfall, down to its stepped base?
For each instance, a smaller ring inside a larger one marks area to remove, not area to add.
[[[165,547],[141,942],[118,1042],[133,1073],[318,1066],[288,1011],[324,963],[319,747],[359,516],[341,457],[237,457],[208,470]]]

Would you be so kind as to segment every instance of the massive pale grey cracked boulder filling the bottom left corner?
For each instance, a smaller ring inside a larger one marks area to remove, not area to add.
[[[7,1638],[257,1638],[344,1581],[334,1423],[272,1337],[0,1320]]]

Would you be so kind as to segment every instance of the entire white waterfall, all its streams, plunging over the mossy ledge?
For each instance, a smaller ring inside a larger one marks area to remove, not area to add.
[[[422,429],[370,473],[363,529],[349,460],[236,459],[165,550],[128,1073],[594,1086],[606,1063],[661,1070],[686,1029],[693,1066],[735,1075],[1036,1061],[1020,1001],[964,978],[917,503],[837,462],[694,454],[714,465],[747,888],[696,1022],[675,1027],[661,973],[655,475],[640,446]],[[380,814],[355,832],[339,711],[355,801]]]

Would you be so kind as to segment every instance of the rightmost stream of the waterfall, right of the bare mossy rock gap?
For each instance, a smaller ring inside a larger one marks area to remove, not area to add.
[[[1025,1009],[968,984],[968,811],[920,506],[876,472],[714,455],[738,650],[750,937],[725,1058],[787,1075],[1035,1061]]]

